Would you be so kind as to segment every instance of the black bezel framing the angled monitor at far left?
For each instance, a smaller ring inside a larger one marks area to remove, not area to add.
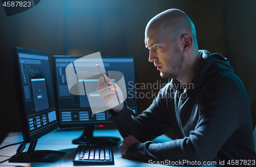
[[[40,137],[51,133],[58,129],[58,123],[54,123],[51,126],[49,126],[47,129],[42,129],[39,132],[36,132],[31,135],[30,129],[29,129],[29,122],[28,122],[28,115],[25,111],[25,96],[23,91],[23,82],[22,82],[22,72],[20,71],[20,63],[19,63],[19,56],[18,53],[28,53],[28,54],[36,54],[36,55],[44,55],[48,56],[49,59],[49,67],[50,67],[50,74],[52,79],[52,88],[53,88],[53,96],[54,96],[54,105],[56,110],[56,99],[55,99],[55,90],[53,86],[53,78],[52,78],[52,70],[51,70],[51,62],[50,62],[50,56],[49,52],[44,51],[37,51],[32,49],[25,49],[23,47],[15,46],[13,47],[13,60],[14,60],[14,71],[15,71],[15,79],[17,79],[18,82],[15,82],[15,88],[16,88],[16,97],[17,97],[17,106],[18,106],[18,113],[19,113],[19,121],[20,126],[22,129],[22,134],[25,142],[31,142],[39,139]],[[22,97],[22,98],[20,98]],[[57,116],[57,114],[56,114]]]

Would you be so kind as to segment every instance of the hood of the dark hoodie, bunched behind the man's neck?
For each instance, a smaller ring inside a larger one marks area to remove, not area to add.
[[[186,89],[195,89],[196,87],[201,86],[204,84],[211,76],[219,73],[219,72],[228,72],[234,73],[233,68],[230,66],[230,63],[227,61],[226,58],[221,56],[220,54],[210,54],[207,50],[199,50],[200,56],[203,60],[200,68],[198,69],[197,74],[191,81],[193,86],[187,86]],[[180,85],[180,82],[176,79],[172,79],[170,81],[171,85]],[[174,86],[173,88],[176,90],[182,90],[181,87],[183,86]],[[184,88],[183,88],[184,89]]]

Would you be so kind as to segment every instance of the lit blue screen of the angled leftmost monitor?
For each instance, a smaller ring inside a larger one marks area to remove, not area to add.
[[[30,133],[57,123],[49,57],[18,53]]]

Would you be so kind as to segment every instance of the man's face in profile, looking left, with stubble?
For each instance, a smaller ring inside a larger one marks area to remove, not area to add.
[[[172,41],[166,31],[153,28],[145,32],[145,45],[150,50],[148,61],[160,70],[162,78],[177,78],[184,63],[184,54],[176,41]]]

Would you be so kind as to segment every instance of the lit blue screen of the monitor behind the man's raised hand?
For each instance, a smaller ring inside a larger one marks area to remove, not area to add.
[[[92,114],[90,110],[90,104],[87,95],[77,96],[69,92],[67,79],[66,79],[66,67],[79,59],[80,57],[56,57],[56,83],[57,83],[57,102],[60,114],[60,123],[63,124],[83,124],[83,123],[106,123],[112,122],[110,119],[109,110],[100,112],[97,114]],[[133,58],[102,58],[105,71],[120,71],[125,80],[126,87],[130,85],[135,85],[135,71],[134,71],[134,59]],[[90,68],[96,68],[95,62],[86,63],[88,70],[79,71],[79,74],[89,75]],[[77,70],[77,69],[76,69]],[[77,71],[78,73],[78,71]],[[98,74],[95,74],[98,75]],[[90,74],[89,76],[93,76]],[[95,90],[97,89],[97,81],[99,78],[87,80],[90,85],[95,85]],[[133,89],[134,86],[131,86]],[[99,93],[93,94],[95,98],[100,98]],[[129,107],[136,113],[137,112],[137,102],[135,97],[135,90],[127,93],[126,102]]]

